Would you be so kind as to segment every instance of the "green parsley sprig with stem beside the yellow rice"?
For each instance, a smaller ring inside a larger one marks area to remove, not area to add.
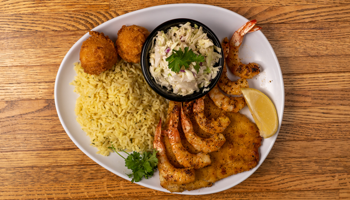
[[[120,155],[113,145],[108,148],[112,148],[118,155]],[[124,150],[122,151],[125,152]],[[145,179],[153,176],[154,170],[157,168],[158,164],[156,149],[153,149],[153,153],[144,151],[142,157],[140,156],[140,153],[136,151],[131,154],[128,152],[125,153],[128,154],[126,159],[122,155],[120,156],[125,160],[125,166],[132,170],[132,174],[126,174],[129,178],[132,177],[131,182],[139,182],[143,176]]]

